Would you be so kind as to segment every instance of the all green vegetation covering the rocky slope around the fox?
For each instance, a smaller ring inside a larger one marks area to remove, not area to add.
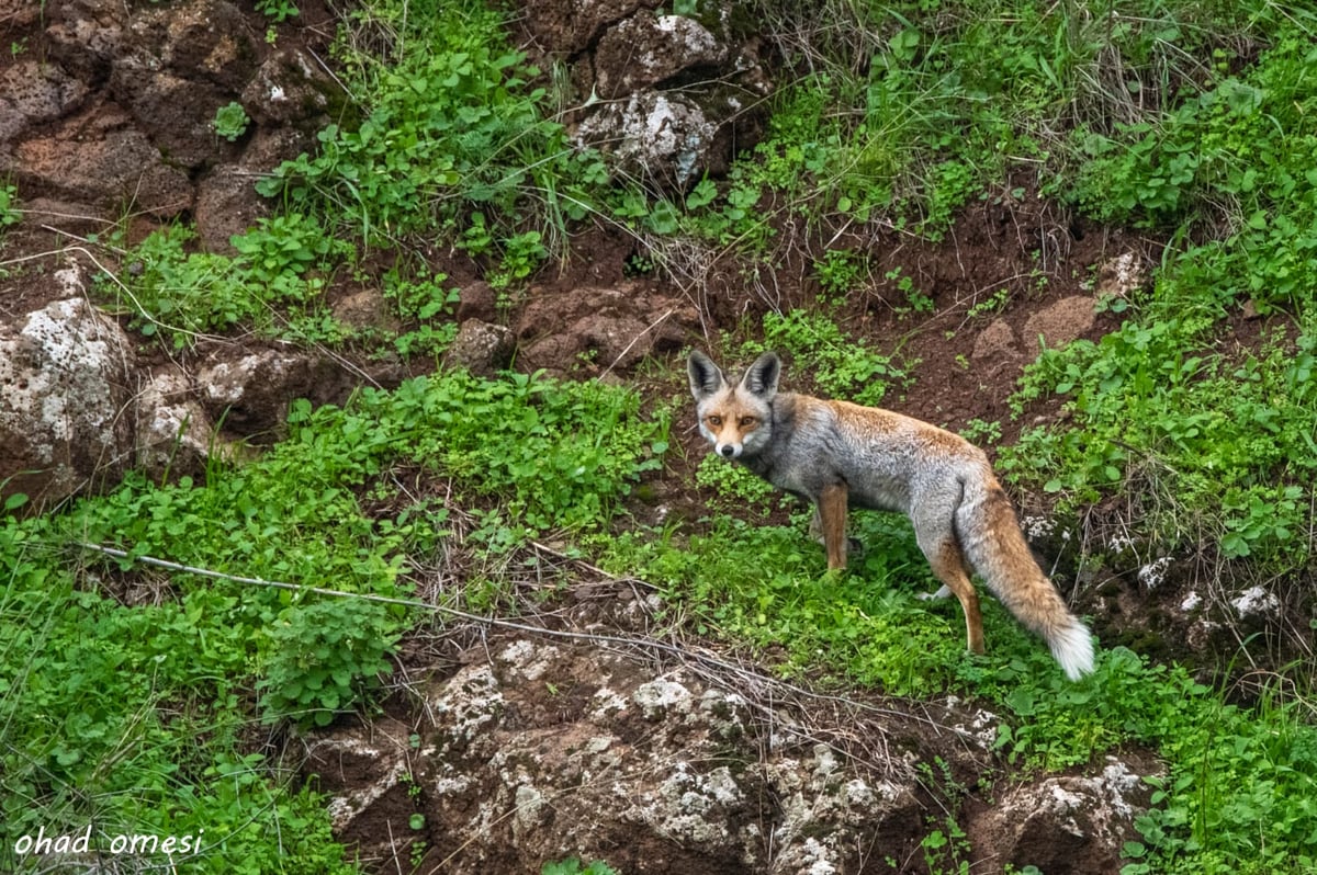
[[[296,16],[267,7],[271,21]],[[782,63],[766,137],[726,178],[676,197],[612,179],[599,155],[570,147],[556,114],[573,99],[564,76],[511,46],[506,12],[362,4],[335,43],[348,92],[338,117],[313,154],[261,184],[277,212],[230,257],[195,251],[186,226],[130,249],[99,241],[138,266],[107,274],[101,303],[170,349],[241,330],[429,357],[453,336],[454,289],[423,258],[436,238],[469,253],[510,303],[541,264],[572,255],[581,222],[631,229],[651,270],[712,251],[763,270],[781,257],[782,217],[817,229],[881,221],[936,241],[959,208],[1013,196],[1004,180],[1023,175],[1073,211],[1171,245],[1146,291],[1105,303],[1122,312],[1119,330],[1029,368],[1018,412],[1060,399],[1068,416],[998,447],[1008,478],[1063,512],[1133,496],[1131,524],[1159,547],[1206,543],[1233,570],[1310,580],[1312,12],[1267,0],[752,7]],[[240,121],[217,118],[217,130],[237,136]],[[16,197],[0,187],[0,225]],[[396,254],[394,267],[366,278],[362,255],[379,250]],[[810,263],[818,308],[773,313],[763,334],[724,347],[785,349],[832,395],[878,403],[906,388],[900,351],[834,317],[874,279],[868,257],[824,249]],[[324,292],[342,278],[381,282],[404,328],[338,325]],[[931,305],[886,279],[911,312]],[[1226,334],[1245,307],[1280,317],[1251,347]],[[1069,684],[996,604],[985,605],[992,654],[965,655],[955,605],[915,599],[934,582],[903,521],[857,520],[868,550],[828,574],[805,517],[748,524],[744,508],[784,505],[716,459],[687,484],[709,499],[706,520],[619,532],[624,499],[669,451],[672,409],[647,413],[636,395],[597,384],[441,374],[341,408],[298,403],[277,446],[198,480],[130,474],[108,495],[21,520],[11,499],[0,864],[32,867],[4,858],[22,836],[94,822],[107,836],[199,836],[192,871],[354,871],[315,786],[252,753],[253,728],[369,713],[400,637],[436,622],[410,604],[427,562],[458,542],[498,557],[553,533],[652,583],[687,632],[777,654],[780,671],[984,703],[1013,767],[1155,750],[1168,771],[1125,849],[1129,875],[1317,868],[1310,667],[1276,674],[1243,707],[1188,667],[1104,646],[1094,676]],[[400,471],[448,484],[449,497],[407,488]],[[444,599],[507,608],[497,567]]]

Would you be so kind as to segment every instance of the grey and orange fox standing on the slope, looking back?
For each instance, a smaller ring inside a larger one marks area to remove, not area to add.
[[[814,505],[810,534],[830,570],[846,568],[849,508],[894,511],[960,600],[972,653],[984,653],[973,571],[1051,650],[1065,676],[1093,671],[1093,638],[1034,561],[986,454],[930,422],[876,407],[780,392],[782,361],[764,353],[738,383],[705,353],[687,359],[699,433],[712,451]]]

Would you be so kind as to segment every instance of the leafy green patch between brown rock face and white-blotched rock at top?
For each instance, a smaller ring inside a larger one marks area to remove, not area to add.
[[[313,155],[286,162],[258,189],[341,217],[367,245],[437,228],[487,253],[504,282],[524,279],[548,254],[544,229],[589,209],[587,187],[606,180],[598,158],[573,150],[545,117],[551,95],[528,84],[539,70],[507,47],[502,13],[385,1],[357,17],[336,51],[361,117],[321,130]],[[346,38],[379,30],[394,39],[379,54]]]

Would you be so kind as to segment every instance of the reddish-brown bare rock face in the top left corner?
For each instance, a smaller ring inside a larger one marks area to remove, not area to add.
[[[253,176],[313,142],[336,88],[303,49],[271,47],[261,18],[227,0],[43,9],[42,57],[0,74],[0,175],[61,229],[125,211],[195,213],[203,241],[227,249],[262,213]],[[230,104],[250,122],[217,130]]]

